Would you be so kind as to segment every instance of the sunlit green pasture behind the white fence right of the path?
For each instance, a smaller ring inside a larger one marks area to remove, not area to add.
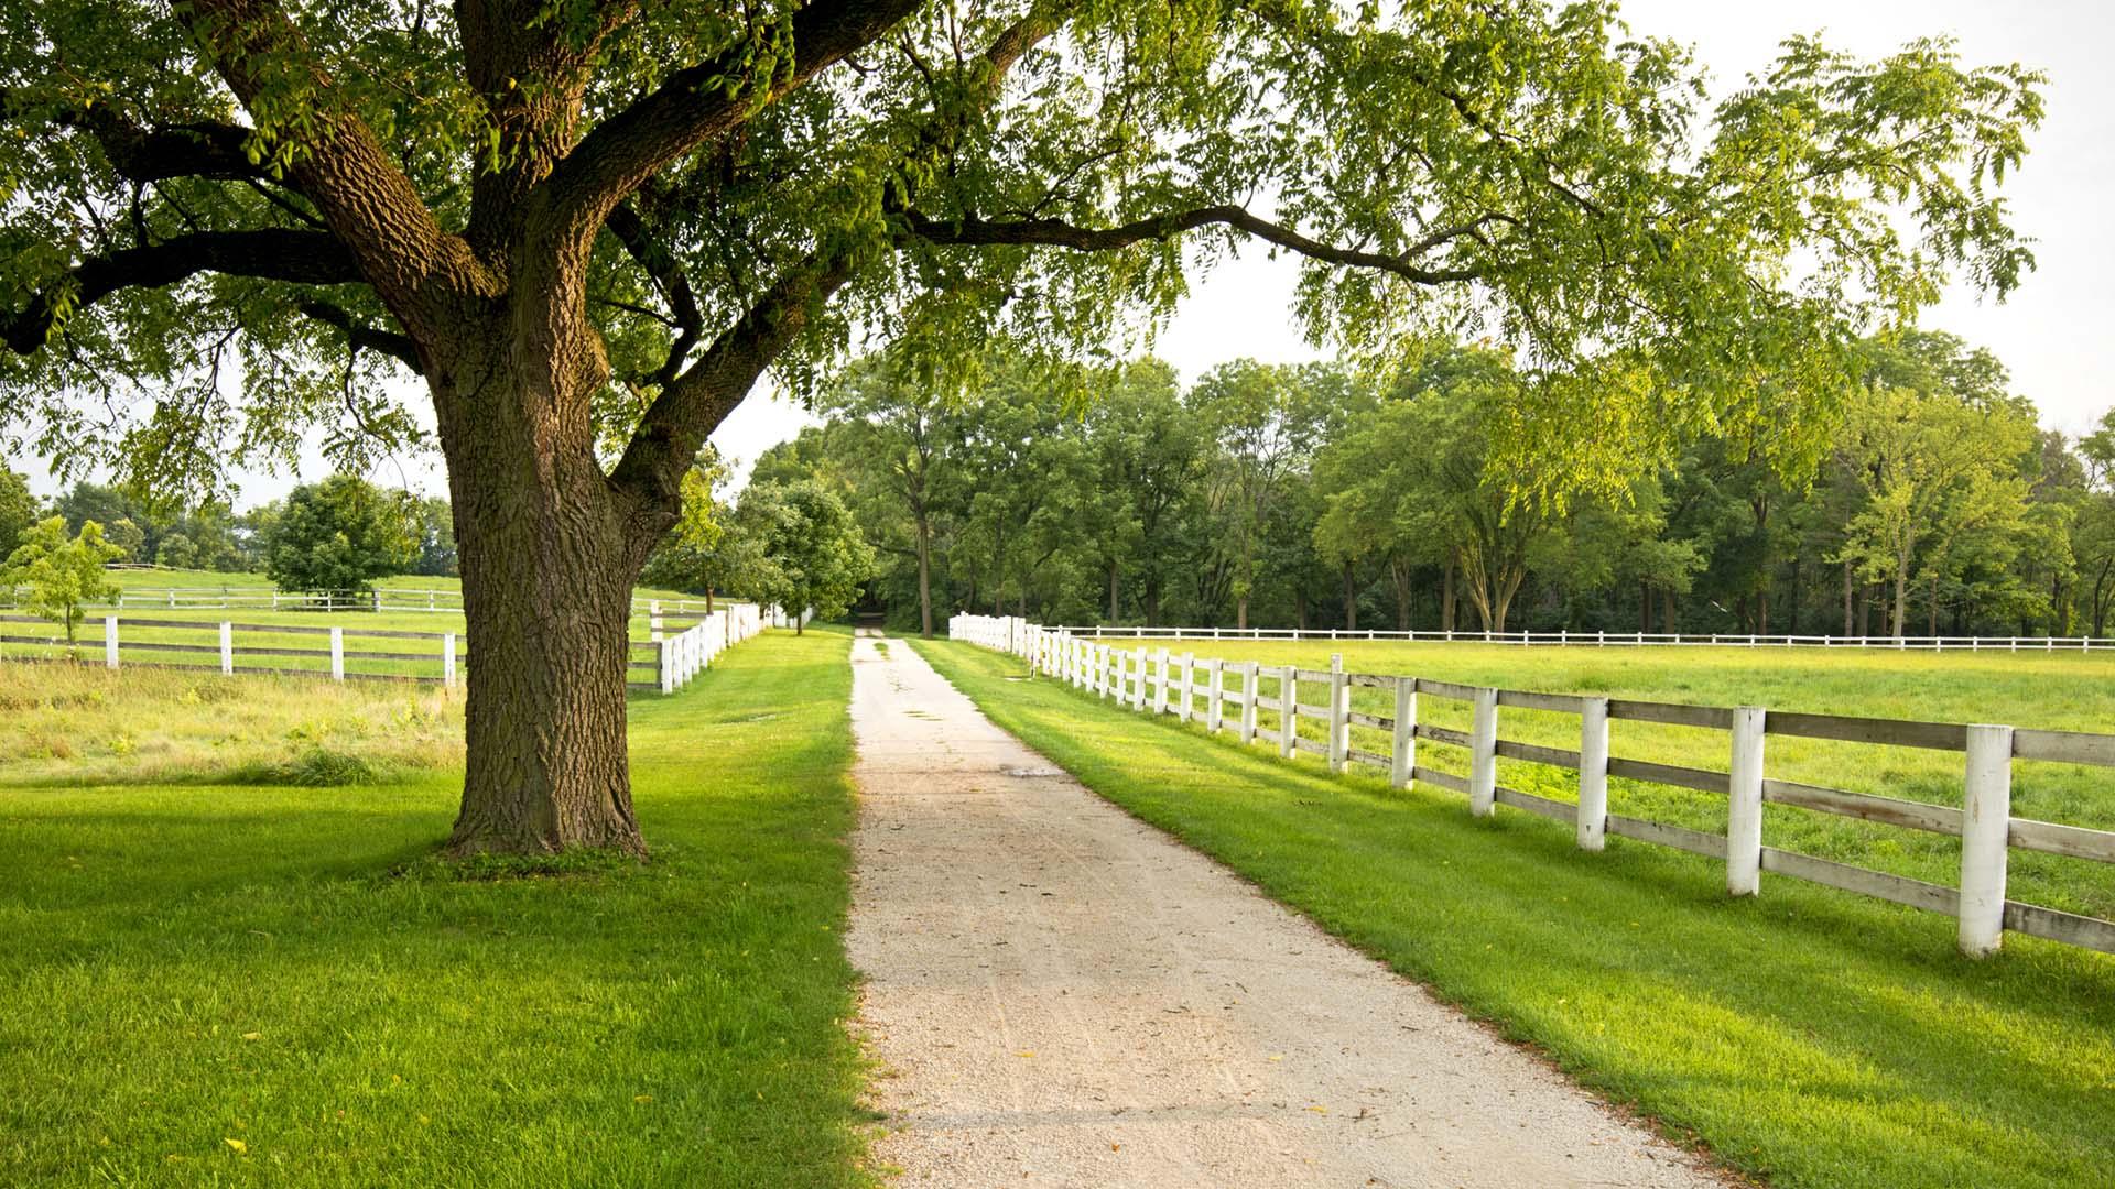
[[[1159,647],[1159,645],[1151,645]],[[2115,732],[2115,654],[1923,654],[1889,650],[1745,647],[1506,647],[1472,643],[1366,641],[1182,641],[1182,650],[1225,660],[1292,662],[1328,669],[1341,652],[1354,673],[1413,673],[1470,685],[1605,694],[1705,707],[1758,705],[1772,711],[1868,715],[1923,721],[1992,721],[2049,730]],[[1263,681],[1277,696],[1275,679]],[[1390,690],[1354,688],[1351,707],[1394,715]],[[1320,705],[1322,685],[1301,685]],[[1470,707],[1419,696],[1419,721],[1468,730]],[[1263,726],[1277,726],[1265,711]],[[1578,717],[1506,707],[1500,738],[1578,749]],[[1322,719],[1301,734],[1320,740]],[[1351,730],[1351,745],[1387,753],[1385,732]],[[1614,721],[1610,751],[1629,760],[1724,772],[1726,732]],[[1421,740],[1417,762],[1468,774],[1468,753]],[[1772,779],[1958,806],[1965,757],[1950,751],[1770,736]],[[1578,800],[1578,774],[1525,760],[1500,760],[1497,781],[1557,802]],[[2115,829],[2115,770],[2079,764],[2013,764],[2013,817]],[[1726,831],[1726,798],[1641,781],[1610,781],[1610,812],[1645,817],[1711,834]],[[1961,876],[1961,842],[1942,834],[1874,825],[1794,806],[1764,806],[1764,842],[1838,863],[1855,863],[1935,884]],[[2013,850],[2011,899],[2115,918],[2115,865]]]

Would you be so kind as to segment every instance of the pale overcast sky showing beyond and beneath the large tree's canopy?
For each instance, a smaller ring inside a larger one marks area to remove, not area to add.
[[[1669,36],[1696,47],[1713,93],[1724,93],[1762,68],[1789,34],[1821,32],[1827,44],[1874,57],[1925,34],[1952,34],[1971,63],[2020,61],[2049,74],[2049,116],[2030,142],[2033,154],[2005,193],[2016,226],[2030,235],[2039,269],[2005,305],[1973,292],[1952,292],[1925,315],[1925,326],[1990,347],[2011,368],[2013,387],[2041,408],[2043,423],[2083,432],[2115,404],[2115,220],[2104,207],[2115,193],[2115,4],[2107,0],[1624,0],[1639,36]],[[1311,360],[1316,351],[1288,324],[1294,264],[1267,260],[1261,250],[1195,283],[1155,351],[1184,381],[1237,355],[1267,362]],[[725,455],[747,463],[799,432],[808,415],[785,402],[751,396],[713,436]],[[51,489],[36,463],[40,491]],[[317,478],[311,463],[302,478]],[[402,459],[374,478],[406,478],[444,491],[436,459]],[[290,476],[245,476],[241,504],[283,495]]]

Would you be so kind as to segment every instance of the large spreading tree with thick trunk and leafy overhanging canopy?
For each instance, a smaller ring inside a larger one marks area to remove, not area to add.
[[[419,434],[385,381],[423,381],[478,650],[457,850],[641,846],[632,578],[706,434],[854,334],[945,381],[994,334],[1151,324],[1263,241],[1318,336],[1468,319],[1671,381],[1516,421],[1590,468],[1789,419],[1865,324],[2028,262],[1994,182],[2039,78],[1942,42],[1796,40],[1700,112],[1612,2],[0,13],[0,381],[61,470],[207,487],[326,421],[357,470]]]

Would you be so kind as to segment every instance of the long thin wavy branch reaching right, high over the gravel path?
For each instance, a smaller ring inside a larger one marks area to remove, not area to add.
[[[903,222],[903,228],[909,235],[916,235],[918,239],[924,239],[928,243],[960,243],[979,248],[1041,245],[1041,248],[1072,248],[1077,252],[1115,252],[1119,248],[1132,248],[1134,243],[1144,243],[1148,239],[1167,239],[1184,231],[1195,231],[1199,226],[1216,224],[1244,231],[1256,239],[1299,252],[1301,256],[1307,256],[1311,260],[1322,260],[1328,264],[1345,264],[1354,269],[1377,269],[1383,273],[1394,273],[1419,286],[1474,281],[1483,275],[1481,269],[1426,269],[1417,264],[1409,252],[1385,256],[1379,252],[1360,252],[1354,248],[1337,248],[1332,243],[1322,243],[1320,239],[1309,239],[1307,235],[1301,235],[1290,226],[1275,224],[1261,216],[1254,216],[1239,205],[1214,205],[1189,212],[1172,212],[1110,228],[1085,228],[1055,218],[988,222],[971,216],[943,222],[926,218],[918,212],[901,212],[897,218]]]

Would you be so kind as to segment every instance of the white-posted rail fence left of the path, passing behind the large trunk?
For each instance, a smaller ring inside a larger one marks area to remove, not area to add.
[[[651,618],[651,639],[630,643],[635,690],[673,694],[728,647],[753,639],[766,624],[787,624],[778,607],[721,603],[700,618]],[[38,624],[27,633],[17,624]],[[681,624],[681,630],[668,630]],[[269,673],[332,681],[438,681],[457,685],[472,662],[467,633],[366,628],[360,624],[245,624],[235,620],[171,620],[165,616],[99,616],[80,622],[87,635],[68,643],[49,620],[0,614],[0,660],[51,660],[53,650],[102,654],[108,669],[195,669],[201,673]],[[142,654],[161,660],[140,660]],[[643,654],[643,658],[641,658]],[[264,664],[258,664],[258,662]],[[245,664],[247,662],[247,664]]]

